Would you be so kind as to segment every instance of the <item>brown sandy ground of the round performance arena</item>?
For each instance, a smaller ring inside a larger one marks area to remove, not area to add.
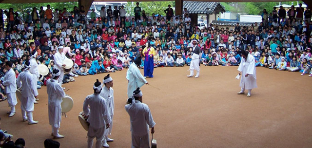
[[[187,78],[189,67],[157,68],[152,86],[142,87],[143,102],[148,104],[156,122],[154,138],[158,148],[311,148],[312,77],[299,73],[257,68],[258,88],[252,97],[237,95],[237,67],[201,66],[199,78]],[[112,73],[115,90],[115,115],[111,148],[130,148],[126,71]],[[141,73],[143,73],[141,71]],[[74,108],[62,116],[57,139],[61,148],[86,148],[87,132],[78,121],[84,98],[93,93],[96,79],[106,74],[79,76],[63,85],[74,99]],[[42,148],[51,136],[46,87],[39,90],[35,105],[37,125],[22,122],[20,102],[17,114],[8,118],[7,102],[0,103],[1,128],[22,137],[27,148]]]

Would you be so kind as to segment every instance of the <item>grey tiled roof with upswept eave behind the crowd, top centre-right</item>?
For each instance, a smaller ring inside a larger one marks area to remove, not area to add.
[[[220,2],[183,1],[184,8],[187,8],[190,14],[213,14],[216,8],[222,13],[225,12],[225,8]]]

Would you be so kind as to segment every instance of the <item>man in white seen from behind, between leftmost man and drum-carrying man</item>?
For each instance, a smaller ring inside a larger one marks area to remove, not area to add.
[[[25,61],[25,70],[21,72],[17,79],[17,86],[21,88],[21,114],[23,121],[28,120],[28,124],[37,124],[38,121],[33,120],[33,111],[34,111],[34,102],[35,97],[37,97],[38,92],[36,93],[37,87],[33,85],[33,74],[29,72],[31,67],[29,61]],[[27,112],[27,116],[26,116]]]

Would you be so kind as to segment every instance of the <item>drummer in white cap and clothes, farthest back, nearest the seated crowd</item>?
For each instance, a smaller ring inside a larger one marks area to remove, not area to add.
[[[55,64],[55,68],[59,70],[60,75],[59,75],[59,86],[62,86],[62,82],[63,82],[63,78],[64,78],[64,69],[63,66],[66,66],[66,64],[63,64],[64,59],[66,59],[67,57],[64,55],[63,53],[63,46],[59,46],[59,51],[57,53],[55,53],[54,55],[54,64]],[[62,89],[64,90],[65,88],[62,87]]]

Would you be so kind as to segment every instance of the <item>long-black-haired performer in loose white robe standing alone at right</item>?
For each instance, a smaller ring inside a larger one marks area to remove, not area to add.
[[[245,89],[248,90],[247,96],[250,97],[252,89],[257,88],[255,60],[254,56],[249,52],[242,51],[242,59],[238,66],[239,74],[241,74],[240,84],[241,91],[237,94],[244,94]]]

